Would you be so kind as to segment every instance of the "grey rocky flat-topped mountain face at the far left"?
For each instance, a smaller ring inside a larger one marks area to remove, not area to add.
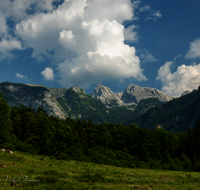
[[[56,96],[51,92],[51,89],[45,86],[4,82],[0,84],[1,91],[10,106],[22,104],[35,110],[41,106],[48,115],[66,117],[66,114],[59,107]]]

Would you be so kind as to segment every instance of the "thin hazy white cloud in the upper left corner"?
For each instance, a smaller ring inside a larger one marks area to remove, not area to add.
[[[53,0],[1,0],[0,6],[0,60],[11,60],[16,56],[12,50],[22,49],[22,44],[17,36],[10,34],[13,30],[7,25],[6,20],[13,23],[21,22],[22,19],[31,17],[29,12],[52,11]]]

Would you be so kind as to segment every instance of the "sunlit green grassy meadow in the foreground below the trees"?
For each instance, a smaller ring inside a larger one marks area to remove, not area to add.
[[[138,189],[133,186],[152,190],[200,189],[200,174],[196,172],[119,168],[2,151],[0,164],[7,165],[0,167],[1,190]],[[17,180],[18,186],[11,187],[12,180]]]

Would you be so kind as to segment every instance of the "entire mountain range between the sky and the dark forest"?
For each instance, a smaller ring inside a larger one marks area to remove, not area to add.
[[[0,91],[10,106],[24,105],[35,110],[41,107],[48,115],[61,119],[92,119],[96,124],[135,123],[141,128],[163,127],[171,131],[187,131],[188,126],[194,127],[198,111],[191,113],[200,105],[198,90],[185,91],[181,97],[173,98],[157,89],[134,84],[119,93],[98,84],[88,95],[78,86],[66,89],[3,82],[0,83]]]

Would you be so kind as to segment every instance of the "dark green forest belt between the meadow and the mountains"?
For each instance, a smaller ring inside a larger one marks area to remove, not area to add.
[[[200,124],[188,132],[94,124],[48,116],[42,108],[9,107],[0,93],[0,147],[59,160],[119,167],[200,171]]]

